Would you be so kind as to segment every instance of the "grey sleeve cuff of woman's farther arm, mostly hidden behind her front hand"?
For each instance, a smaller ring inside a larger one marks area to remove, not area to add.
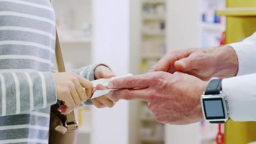
[[[72,72],[75,72],[76,74],[84,77],[85,79],[88,79],[89,81],[93,81],[93,80],[95,80],[94,70],[99,65],[105,65],[105,64],[100,63],[100,64],[88,65],[88,66],[82,67],[80,69],[75,69]],[[105,65],[105,66],[108,67],[108,65]],[[87,101],[85,101],[85,103],[81,104],[79,107],[84,107],[85,105],[92,105],[92,102],[90,100],[87,100]]]

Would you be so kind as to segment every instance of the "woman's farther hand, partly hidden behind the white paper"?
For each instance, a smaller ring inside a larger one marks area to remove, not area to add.
[[[99,65],[94,71],[95,79],[108,79],[108,78],[112,78],[115,76],[116,76],[115,73],[112,72],[111,69],[109,69],[108,67],[106,67],[104,65]],[[108,88],[99,84],[93,90],[93,92],[95,92],[96,90],[104,90],[104,89],[108,89]],[[98,98],[93,98],[93,99],[91,99],[91,101],[92,101],[92,104],[95,105],[97,108],[105,108],[105,107],[112,108],[116,102],[116,101],[109,99],[107,97],[107,95],[103,95]]]

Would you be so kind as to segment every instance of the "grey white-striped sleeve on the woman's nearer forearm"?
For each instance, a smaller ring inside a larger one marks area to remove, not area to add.
[[[46,108],[56,101],[51,72],[0,73],[0,116]]]

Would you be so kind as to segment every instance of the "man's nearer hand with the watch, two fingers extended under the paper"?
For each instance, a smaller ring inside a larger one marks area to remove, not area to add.
[[[208,82],[181,72],[151,72],[115,79],[108,88],[112,99],[148,101],[158,122],[190,124],[203,120],[200,97]]]

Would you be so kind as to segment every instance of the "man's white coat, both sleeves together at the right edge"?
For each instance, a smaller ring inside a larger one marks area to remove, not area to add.
[[[256,33],[229,46],[236,51],[239,63],[237,76],[222,81],[230,118],[234,121],[256,121]]]

